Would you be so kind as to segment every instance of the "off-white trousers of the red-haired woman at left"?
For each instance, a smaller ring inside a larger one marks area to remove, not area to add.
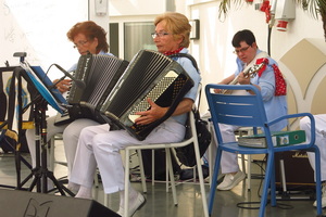
[[[54,120],[55,120],[55,116],[51,116],[47,118],[47,130],[48,130],[47,140],[49,141],[57,133],[63,133],[62,138],[63,138],[63,144],[64,144],[64,151],[65,151],[65,157],[67,161],[67,170],[68,170],[67,176],[70,177],[71,170],[73,168],[78,138],[82,129],[88,126],[96,126],[100,124],[91,119],[80,118],[72,122],[71,124],[55,126]],[[35,129],[26,130],[26,140],[30,152],[32,165],[33,167],[35,167],[36,166]]]

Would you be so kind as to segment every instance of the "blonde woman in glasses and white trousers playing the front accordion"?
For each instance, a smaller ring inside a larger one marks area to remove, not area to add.
[[[155,18],[154,25],[155,33],[152,36],[159,52],[167,55],[179,52],[188,53],[191,26],[185,15],[172,12],[164,13]],[[145,204],[143,195],[136,191],[131,184],[129,184],[129,197],[124,199],[124,166],[120,150],[135,144],[179,142],[185,138],[187,114],[191,111],[196,100],[201,78],[189,59],[174,58],[174,60],[189,74],[195,86],[179,102],[173,115],[154,128],[143,141],[135,139],[126,130],[109,131],[109,125],[83,129],[68,183],[71,189],[78,190],[76,197],[91,197],[93,176],[98,167],[104,192],[106,194],[120,192],[120,209],[117,212],[120,215],[124,214],[125,200],[129,200],[130,216]],[[148,125],[160,119],[167,111],[167,107],[161,107],[150,99],[148,102],[151,108],[138,113],[141,117],[136,119],[137,125]]]

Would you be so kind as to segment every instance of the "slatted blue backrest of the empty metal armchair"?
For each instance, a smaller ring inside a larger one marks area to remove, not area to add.
[[[214,89],[251,90],[254,94],[223,94],[214,93]],[[271,133],[261,93],[251,85],[208,85],[206,99],[215,129],[218,129],[217,140],[222,143],[218,124],[242,127],[261,127],[265,133]]]

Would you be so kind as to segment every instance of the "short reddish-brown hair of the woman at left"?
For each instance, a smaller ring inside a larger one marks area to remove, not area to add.
[[[97,25],[92,21],[86,21],[76,23],[66,34],[67,38],[71,41],[74,41],[75,36],[78,34],[84,34],[87,39],[93,40],[95,38],[98,39],[98,47],[97,52],[109,51],[109,43],[106,41],[106,31],[99,25]]]

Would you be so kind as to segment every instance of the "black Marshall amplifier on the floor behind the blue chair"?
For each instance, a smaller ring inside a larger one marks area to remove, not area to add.
[[[275,153],[275,181],[281,184],[279,161],[284,161],[286,186],[289,190],[298,188],[314,188],[314,170],[312,169],[306,152],[289,151]]]

